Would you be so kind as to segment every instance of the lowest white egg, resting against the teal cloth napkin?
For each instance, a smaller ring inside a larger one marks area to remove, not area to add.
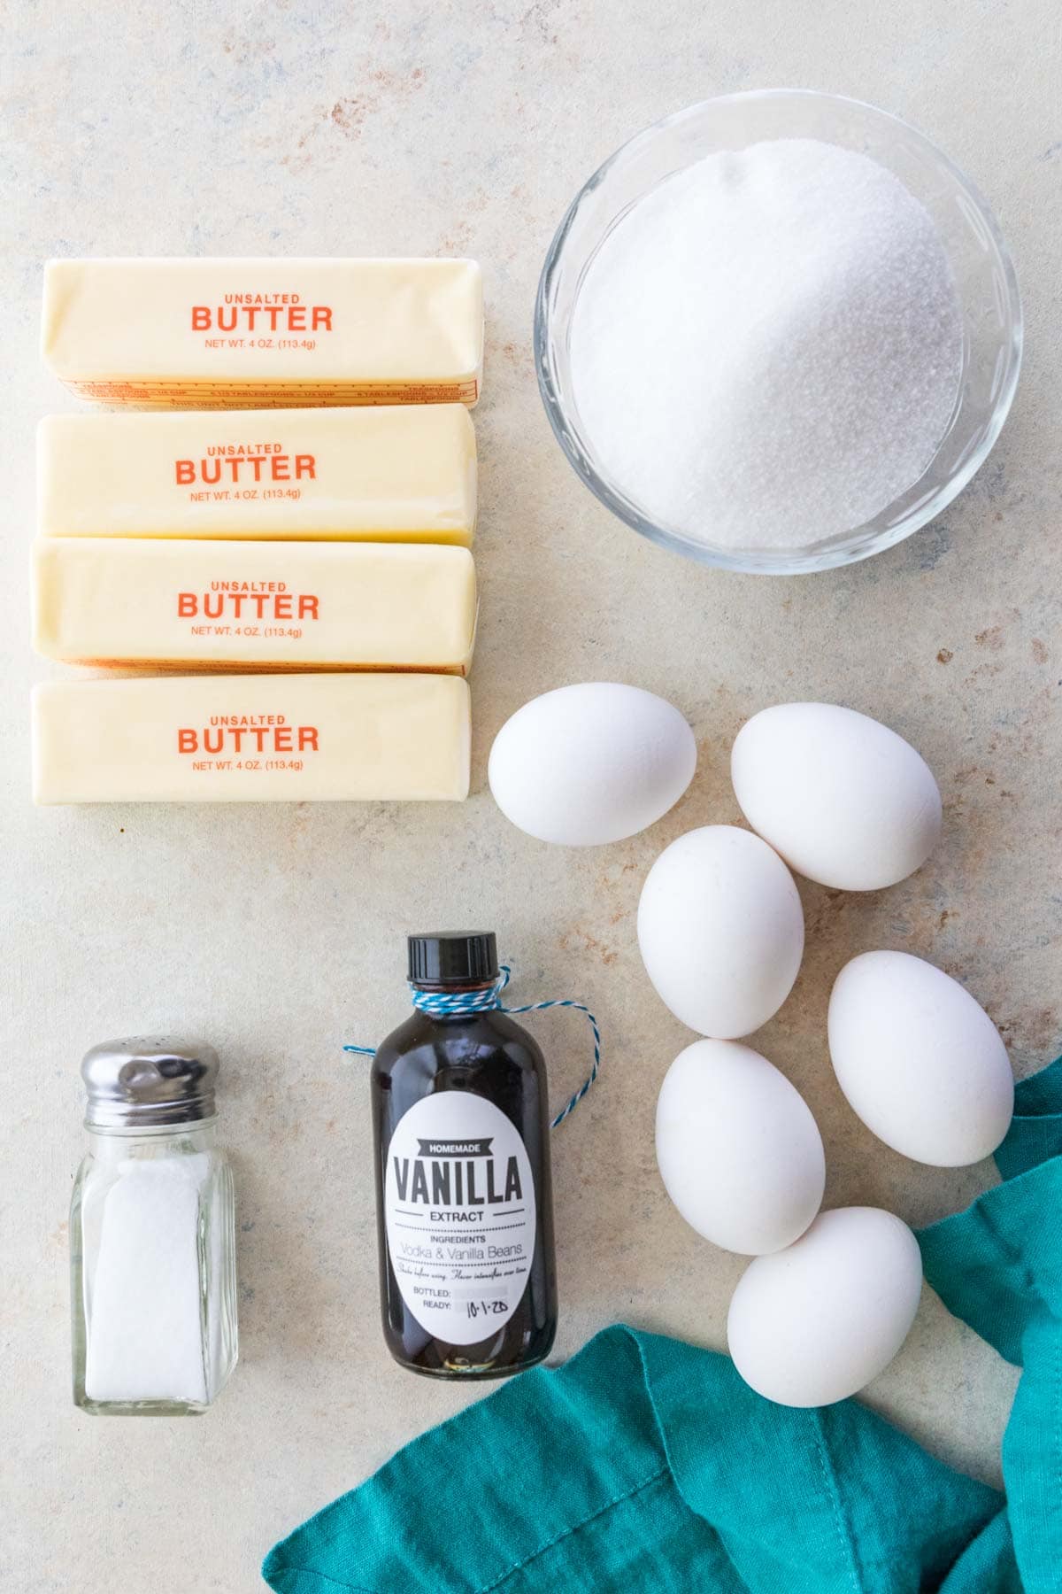
[[[922,1256],[906,1223],[880,1207],[823,1211],[742,1274],[726,1320],[734,1366],[780,1406],[828,1406],[888,1366],[920,1293]]]

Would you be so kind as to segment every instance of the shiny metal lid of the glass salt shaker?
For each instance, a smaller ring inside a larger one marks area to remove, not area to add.
[[[197,1041],[132,1036],[84,1054],[86,1129],[154,1129],[213,1117],[218,1054]]]

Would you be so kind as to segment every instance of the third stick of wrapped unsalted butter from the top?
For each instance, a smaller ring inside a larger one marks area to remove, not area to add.
[[[33,647],[75,665],[444,669],[476,628],[468,548],[41,537]]]

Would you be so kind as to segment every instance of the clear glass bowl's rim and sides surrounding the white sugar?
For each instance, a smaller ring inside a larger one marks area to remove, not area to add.
[[[721,548],[653,518],[595,459],[572,389],[568,341],[580,287],[616,223],[664,177],[718,150],[769,139],[820,139],[895,172],[933,217],[963,319],[955,408],[922,477],[873,520],[802,548]],[[535,367],[557,442],[586,486],[615,515],[661,547],[729,571],[790,575],[852,564],[909,537],[951,504],[1000,435],[1017,386],[1022,309],[1003,234],[959,167],[888,112],[810,89],[726,94],[654,123],[599,167],[572,201],[549,245],[535,304]]]

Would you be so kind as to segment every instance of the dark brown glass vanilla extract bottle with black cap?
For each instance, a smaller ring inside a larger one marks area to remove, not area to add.
[[[546,1063],[497,979],[494,934],[411,936],[414,991],[459,1011],[414,1011],[373,1063],[384,1337],[435,1377],[519,1372],[557,1328]]]

